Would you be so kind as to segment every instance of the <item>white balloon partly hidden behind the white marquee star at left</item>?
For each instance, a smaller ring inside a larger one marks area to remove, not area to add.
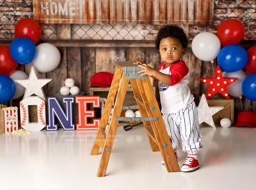
[[[17,99],[19,97],[21,97],[24,93],[25,93],[25,88],[23,86],[21,86],[20,84],[18,84],[17,82],[15,82],[15,79],[28,79],[28,75],[26,73],[24,73],[23,71],[19,71],[19,70],[15,70],[11,75],[10,78],[13,80],[14,84],[15,84],[15,94],[13,96],[13,99]]]

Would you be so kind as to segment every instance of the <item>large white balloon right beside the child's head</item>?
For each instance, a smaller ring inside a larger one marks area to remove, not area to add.
[[[191,44],[195,56],[203,61],[214,60],[220,51],[220,46],[219,38],[210,32],[197,34]]]

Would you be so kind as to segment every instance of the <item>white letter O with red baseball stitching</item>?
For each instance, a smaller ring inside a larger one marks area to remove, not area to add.
[[[37,119],[38,122],[29,122],[28,106],[37,106]],[[38,96],[29,96],[20,102],[20,125],[27,131],[40,131],[45,123],[45,101]]]

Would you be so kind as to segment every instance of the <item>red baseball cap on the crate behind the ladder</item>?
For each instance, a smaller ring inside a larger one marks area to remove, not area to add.
[[[97,86],[101,88],[107,88],[111,85],[112,80],[113,80],[114,74],[109,73],[109,72],[98,72],[92,75],[91,78],[91,86]]]

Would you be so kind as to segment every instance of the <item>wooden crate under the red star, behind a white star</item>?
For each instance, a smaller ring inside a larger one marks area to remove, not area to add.
[[[216,126],[220,126],[220,120],[222,118],[229,118],[231,126],[234,124],[234,100],[233,99],[208,99],[209,106],[223,106],[224,109],[217,112],[212,116]],[[206,123],[202,123],[202,126],[209,126]]]

